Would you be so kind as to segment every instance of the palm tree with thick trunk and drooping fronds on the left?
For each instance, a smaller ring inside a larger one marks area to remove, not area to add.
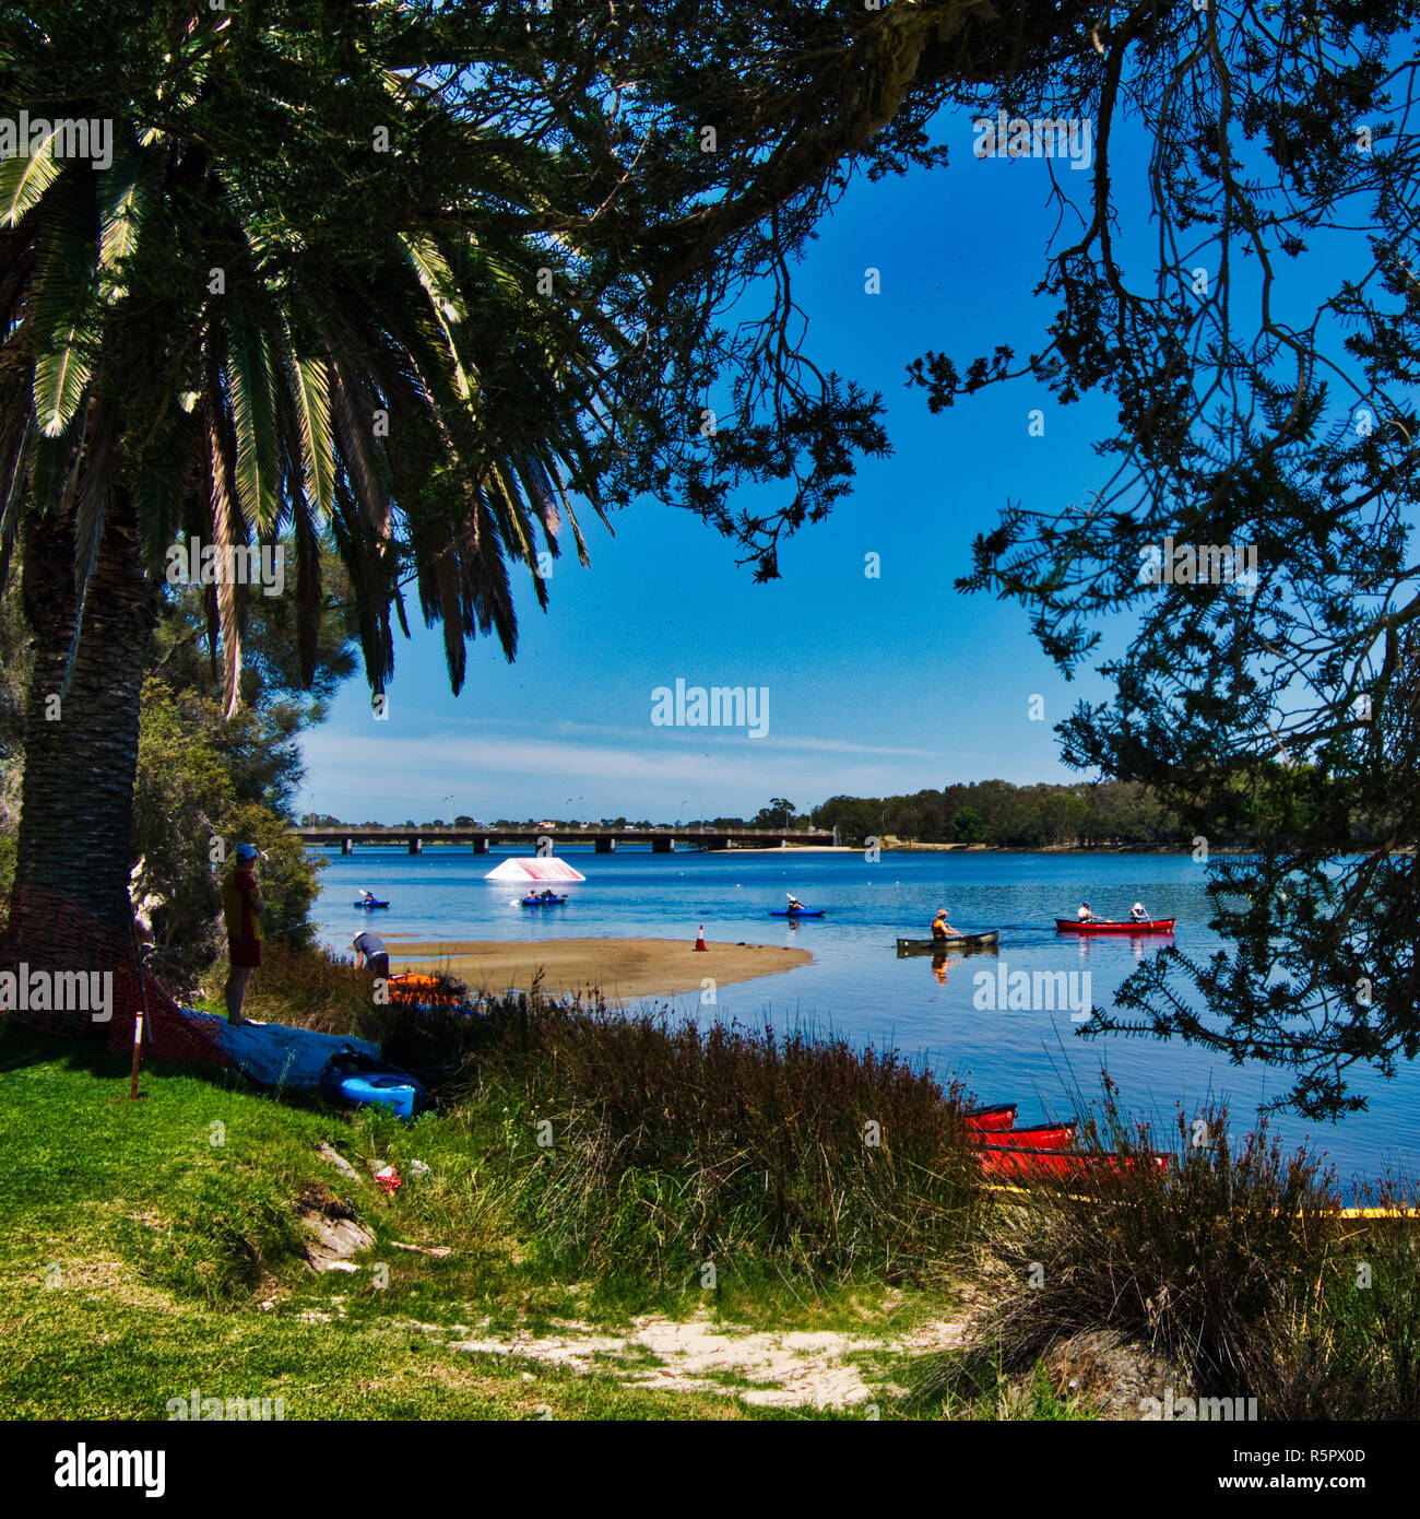
[[[278,134],[213,125],[251,109],[251,38],[199,12],[175,53],[178,99],[117,117],[106,167],[58,156],[58,131],[0,161],[0,585],[23,562],[36,639],[9,937],[32,958],[56,902],[131,921],[138,691],[175,536],[217,565],[290,550],[307,677],[333,544],[378,697],[407,583],[443,626],[457,691],[468,638],[513,655],[510,562],[545,603],[539,554],[557,553],[563,521],[586,556],[571,489],[597,506],[588,439],[620,339],[538,299],[556,249],[497,223],[430,225],[431,172],[401,176],[398,204],[361,188],[364,216],[333,170],[349,185],[357,169],[377,178],[369,161],[322,167],[333,184],[313,196],[311,158],[355,158],[349,138],[314,128],[296,169],[273,172],[290,161]],[[292,64],[279,38],[255,56]],[[314,62],[308,97],[337,94],[340,62],[327,77]],[[18,115],[17,74],[0,81],[0,112]],[[390,134],[418,150],[407,96],[383,82]],[[536,207],[535,163],[484,147],[477,185],[456,188]],[[241,589],[219,574],[205,594],[231,712]]]

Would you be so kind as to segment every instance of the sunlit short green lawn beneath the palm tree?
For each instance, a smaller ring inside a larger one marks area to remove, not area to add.
[[[764,1410],[734,1396],[626,1385],[632,1347],[588,1375],[451,1349],[460,1337],[624,1326],[705,1311],[756,1328],[901,1320],[881,1284],[773,1277],[721,1291],[653,1274],[568,1281],[519,1238],[494,1113],[427,1115],[275,1101],[237,1077],[158,1066],[128,1101],[126,1069],[73,1041],[0,1028],[0,1410],[6,1417],[164,1419],[167,1401],[282,1397],[287,1419],[861,1417]],[[393,1162],[392,1198],[357,1171]],[[428,1168],[415,1177],[410,1162]],[[377,1244],[354,1274],[304,1261],[296,1200],[345,1203]],[[450,1244],[431,1258],[392,1241]],[[387,1268],[374,1284],[371,1264]],[[529,1379],[530,1378],[530,1379]],[[731,1378],[734,1382],[734,1378]],[[749,1384],[746,1384],[749,1385]]]

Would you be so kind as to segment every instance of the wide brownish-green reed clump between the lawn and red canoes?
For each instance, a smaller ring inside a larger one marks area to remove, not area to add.
[[[524,1227],[576,1270],[916,1281],[983,1206],[960,1089],[895,1053],[539,995],[381,1022],[445,1101],[503,1115]]]

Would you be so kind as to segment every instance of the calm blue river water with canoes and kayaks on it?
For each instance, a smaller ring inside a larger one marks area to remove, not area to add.
[[[1101,1069],[1119,1083],[1127,1106],[1169,1120],[1177,1103],[1192,1110],[1204,1098],[1230,1103],[1235,1127],[1288,1083],[1285,1072],[1233,1066],[1179,1041],[1150,1037],[1083,1041],[1069,1010],[983,1010],[975,1006],[977,972],[996,955],[948,963],[945,980],[931,957],[899,960],[893,940],[926,937],[939,907],[957,928],[999,928],[999,960],[1010,971],[1074,971],[1090,975],[1090,995],[1112,1006],[1113,992],[1141,958],[1166,940],[1075,939],[1057,936],[1052,919],[1074,916],[1081,898],[1098,914],[1125,917],[1142,899],[1154,917],[1175,917],[1174,943],[1189,955],[1216,948],[1207,930],[1209,904],[1200,866],[1189,857],[885,854],[867,864],[860,854],[652,855],[623,851],[595,855],[566,851],[586,883],[566,890],[566,907],[529,910],[516,887],[486,881],[507,854],[475,857],[468,849],[357,848],[327,860],[316,904],[320,937],[348,951],[351,934],[374,917],[377,933],[428,939],[665,937],[791,943],[814,963],[787,974],[718,989],[715,1009],[699,993],[673,1006],[688,1016],[762,1024],[811,1022],[854,1042],[896,1047],[925,1060],[940,1077],[960,1077],[983,1101],[1018,1101],[1018,1123],[1068,1116],[1072,1083],[1093,1097]],[[351,904],[361,887],[389,898],[390,910],[366,914]],[[794,892],[828,916],[797,925],[768,916]],[[1077,983],[1078,984],[1078,983]],[[1276,1120],[1292,1145],[1309,1141],[1343,1177],[1377,1174],[1387,1165],[1420,1173],[1415,1120],[1420,1069],[1402,1068],[1393,1082],[1364,1074],[1358,1089],[1370,1110],[1338,1126]]]

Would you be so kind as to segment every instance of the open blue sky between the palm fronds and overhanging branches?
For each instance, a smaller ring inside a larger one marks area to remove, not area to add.
[[[384,722],[363,677],[349,682],[302,741],[301,811],[691,819],[749,816],[770,796],[808,810],[835,793],[1080,779],[1052,725],[1103,684],[1066,684],[1019,608],[952,582],[1007,497],[1063,504],[1100,483],[1090,442],[1112,413],[1098,399],[1060,407],[1024,381],[934,418],[905,389],[928,348],[969,360],[1010,342],[1021,355],[1052,311],[1031,296],[1056,222],[1049,164],[977,159],[967,112],[943,131],[951,167],[857,181],[793,272],[806,351],[882,392],[893,454],[866,460],[852,497],[781,551],[782,579],[753,585],[732,544],[674,507],[620,513],[615,538],[594,524],[591,568],[556,564],[550,611],[521,597],[513,665],[480,641],[456,699],[437,632],[416,627],[396,644]],[[1084,193],[1086,175],[1056,167]],[[878,295],[864,292],[869,267]],[[1045,436],[1028,433],[1033,407]],[[652,693],[677,677],[765,688],[767,734],[655,726]],[[1028,715],[1033,696],[1043,720]]]

